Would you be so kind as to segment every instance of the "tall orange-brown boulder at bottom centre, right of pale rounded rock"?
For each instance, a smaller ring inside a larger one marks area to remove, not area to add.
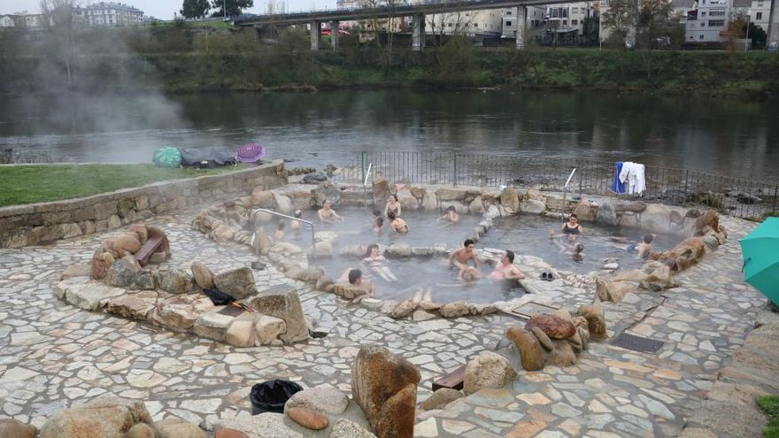
[[[362,346],[351,365],[352,398],[379,438],[412,436],[420,370],[382,347]]]

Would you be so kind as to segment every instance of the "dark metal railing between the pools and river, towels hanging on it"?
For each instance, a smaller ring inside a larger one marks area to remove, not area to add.
[[[360,152],[336,172],[342,183],[365,181],[372,175],[390,181],[477,187],[517,186],[569,193],[618,196],[612,191],[614,163],[586,158],[534,158],[511,155],[451,152]],[[640,199],[663,204],[710,207],[741,218],[760,219],[776,214],[779,184],[751,181],[687,169],[646,165],[646,188]]]

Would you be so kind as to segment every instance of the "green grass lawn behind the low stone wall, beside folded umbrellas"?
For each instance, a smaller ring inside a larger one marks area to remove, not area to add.
[[[96,195],[154,181],[179,180],[243,168],[162,169],[156,165],[3,165],[0,207]]]

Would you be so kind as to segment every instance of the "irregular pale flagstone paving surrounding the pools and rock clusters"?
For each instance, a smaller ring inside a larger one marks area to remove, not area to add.
[[[151,222],[170,237],[170,263],[189,268],[201,260],[220,271],[256,259],[244,246],[217,244],[190,230],[192,214]],[[754,224],[730,218],[722,223],[729,230],[728,242],[679,275],[681,287],[604,304],[610,332],[627,329],[659,339],[665,344],[658,354],[592,342],[575,366],[520,372],[508,388],[482,389],[443,411],[420,412],[415,434],[679,434],[690,418],[690,402],[706,396],[765,302],[740,272],[737,241]],[[351,359],[365,343],[384,345],[420,367],[422,401],[432,380],[493,350],[507,327],[523,324],[503,314],[396,321],[297,283],[306,315],[328,336],[284,347],[238,349],[58,301],[54,288],[60,273],[67,265],[86,263],[100,240],[101,235],[92,235],[0,250],[0,418],[42,426],[59,409],[112,392],[146,401],[154,419],[174,416],[208,426],[220,416],[250,411],[251,385],[263,380],[297,380],[304,387],[329,383],[348,392]],[[273,267],[256,272],[256,279],[258,285],[290,282]]]

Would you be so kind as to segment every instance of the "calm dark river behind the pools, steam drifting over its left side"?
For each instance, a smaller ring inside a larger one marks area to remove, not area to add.
[[[293,166],[345,164],[360,150],[427,150],[779,177],[777,102],[405,90],[0,101],[0,150],[51,150],[58,160],[149,162],[168,144],[235,150],[251,141]]]

